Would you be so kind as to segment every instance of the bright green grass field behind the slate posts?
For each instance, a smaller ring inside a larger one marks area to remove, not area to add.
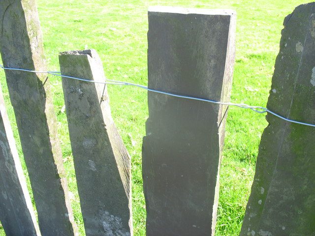
[[[61,51],[94,48],[108,79],[147,85],[147,9],[151,5],[231,8],[237,12],[236,61],[231,102],[266,106],[283,20],[305,0],[37,0],[49,70],[60,70]],[[4,73],[1,86],[6,101]],[[76,190],[64,113],[61,79],[50,76],[61,136],[64,165],[75,220],[85,235]],[[145,201],[141,177],[141,145],[148,118],[147,92],[109,86],[112,116],[132,158],[134,235],[145,235]],[[11,107],[8,113],[16,133]],[[220,204],[216,236],[238,236],[250,194],[258,145],[266,127],[264,115],[230,107],[221,164]],[[21,148],[19,142],[19,152]],[[23,159],[23,158],[22,158]],[[0,227],[0,236],[4,236]]]

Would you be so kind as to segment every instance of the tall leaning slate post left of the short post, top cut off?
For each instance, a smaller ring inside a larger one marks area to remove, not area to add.
[[[46,70],[34,0],[0,1],[0,50],[3,65]],[[39,227],[45,236],[75,235],[57,122],[47,74],[6,70],[25,162],[32,183]]]

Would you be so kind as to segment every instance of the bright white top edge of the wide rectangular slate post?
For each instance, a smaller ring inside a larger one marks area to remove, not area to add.
[[[148,13],[177,13],[177,14],[199,14],[199,15],[236,15],[232,9],[201,9],[184,8],[179,6],[149,6]]]

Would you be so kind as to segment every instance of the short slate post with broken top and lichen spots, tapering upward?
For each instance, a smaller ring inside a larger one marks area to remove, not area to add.
[[[95,50],[63,52],[61,72],[105,82]],[[111,117],[104,84],[63,77],[74,167],[87,236],[130,236],[130,156]]]

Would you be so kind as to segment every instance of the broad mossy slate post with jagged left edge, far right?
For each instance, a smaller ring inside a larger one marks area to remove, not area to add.
[[[284,19],[268,109],[315,124],[315,2]],[[315,128],[267,115],[241,236],[315,235]]]

